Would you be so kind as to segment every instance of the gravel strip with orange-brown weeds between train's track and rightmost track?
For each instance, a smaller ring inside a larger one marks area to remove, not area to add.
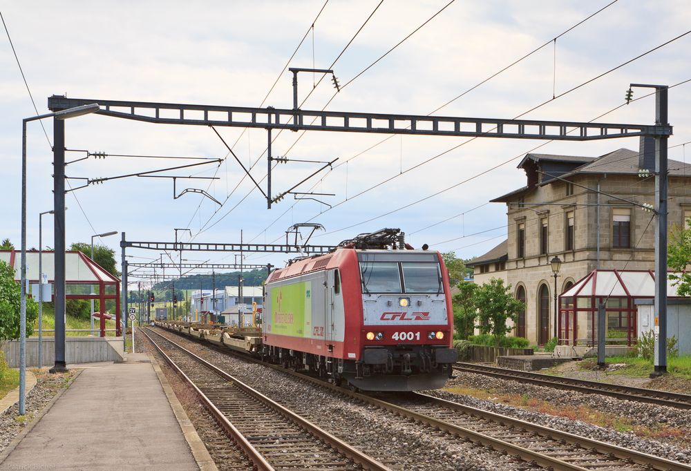
[[[691,463],[691,414],[674,407],[569,392],[482,374],[456,372],[430,394]]]

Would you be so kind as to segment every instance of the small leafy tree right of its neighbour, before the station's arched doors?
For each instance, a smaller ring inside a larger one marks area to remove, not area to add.
[[[518,321],[518,313],[524,309],[524,303],[511,294],[511,285],[504,286],[501,278],[492,278],[477,288],[473,296],[475,307],[480,311],[480,332],[492,334],[497,343],[509,332],[507,320]]]

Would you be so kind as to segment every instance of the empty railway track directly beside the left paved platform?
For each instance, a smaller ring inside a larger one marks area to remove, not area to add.
[[[193,387],[257,470],[389,469],[166,336],[148,328],[140,331]],[[152,332],[163,342],[157,343]]]

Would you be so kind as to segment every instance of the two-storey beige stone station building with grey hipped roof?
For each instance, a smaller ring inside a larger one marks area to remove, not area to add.
[[[514,334],[544,345],[556,336],[556,294],[594,269],[654,269],[650,153],[621,148],[600,157],[527,154],[527,184],[491,202],[507,204],[507,240],[469,262],[475,282],[503,278],[526,303]],[[639,176],[639,170],[649,174]],[[669,160],[670,230],[691,218],[691,165]],[[599,193],[598,193],[599,191]],[[562,264],[555,279],[550,261]],[[608,315],[609,329],[627,329]]]

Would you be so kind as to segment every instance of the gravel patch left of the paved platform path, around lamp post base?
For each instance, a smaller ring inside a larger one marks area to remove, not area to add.
[[[0,415],[0,454],[77,374],[76,370],[60,374],[50,374],[47,369],[32,369],[32,372],[36,376],[36,385],[26,396],[26,414],[20,416],[19,404],[15,404]]]

